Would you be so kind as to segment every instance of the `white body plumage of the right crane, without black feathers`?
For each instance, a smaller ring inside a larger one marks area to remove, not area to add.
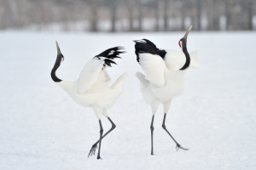
[[[191,68],[199,68],[198,51],[189,53]],[[151,105],[153,114],[160,103],[163,103],[165,113],[169,110],[172,99],[183,94],[184,74],[188,70],[180,71],[186,58],[182,52],[166,50],[165,59],[157,54],[139,54],[139,63],[146,76],[137,72],[141,92],[145,101]]]

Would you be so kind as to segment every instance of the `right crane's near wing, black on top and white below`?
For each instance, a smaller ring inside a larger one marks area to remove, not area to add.
[[[166,51],[156,48],[154,43],[147,39],[135,42],[137,62],[139,62],[146,74],[145,79],[159,87],[164,86],[166,64],[163,58],[166,55]]]

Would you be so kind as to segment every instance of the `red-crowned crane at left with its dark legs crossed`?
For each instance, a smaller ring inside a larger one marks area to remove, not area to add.
[[[95,155],[97,144],[99,143],[97,159],[101,159],[100,152],[102,139],[116,127],[108,116],[107,110],[115,103],[116,99],[118,99],[119,95],[124,91],[125,78],[127,77],[127,73],[125,72],[116,82],[113,83],[112,86],[108,86],[108,82],[110,82],[111,79],[108,76],[106,68],[111,66],[111,64],[116,64],[113,59],[120,58],[119,54],[123,54],[125,52],[120,51],[123,49],[121,47],[109,48],[87,62],[84,69],[81,71],[78,80],[63,81],[55,75],[55,71],[64,60],[64,56],[61,54],[61,50],[57,42],[56,46],[58,54],[50,76],[52,80],[63,88],[77,104],[93,108],[99,120],[101,130],[100,139],[92,145],[88,157]],[[106,116],[112,124],[111,129],[104,135],[102,135],[102,115]]]

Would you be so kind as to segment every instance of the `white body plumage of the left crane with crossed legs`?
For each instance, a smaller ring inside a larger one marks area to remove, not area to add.
[[[77,104],[92,107],[98,119],[101,119],[101,115],[108,116],[107,109],[124,91],[125,77],[127,76],[125,72],[112,86],[108,86],[111,79],[103,64],[103,59],[93,58],[84,66],[77,81],[55,82]]]

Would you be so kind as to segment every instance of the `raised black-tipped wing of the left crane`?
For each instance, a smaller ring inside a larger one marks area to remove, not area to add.
[[[84,94],[92,87],[93,83],[95,83],[98,80],[98,77],[102,69],[104,69],[107,66],[111,66],[111,64],[116,65],[113,59],[120,58],[119,54],[125,53],[124,51],[119,51],[120,49],[123,48],[109,48],[101,54],[96,55],[96,57],[91,59],[84,66],[84,69],[83,71],[81,71],[79,77],[79,94]],[[109,79],[109,77],[107,79]]]

